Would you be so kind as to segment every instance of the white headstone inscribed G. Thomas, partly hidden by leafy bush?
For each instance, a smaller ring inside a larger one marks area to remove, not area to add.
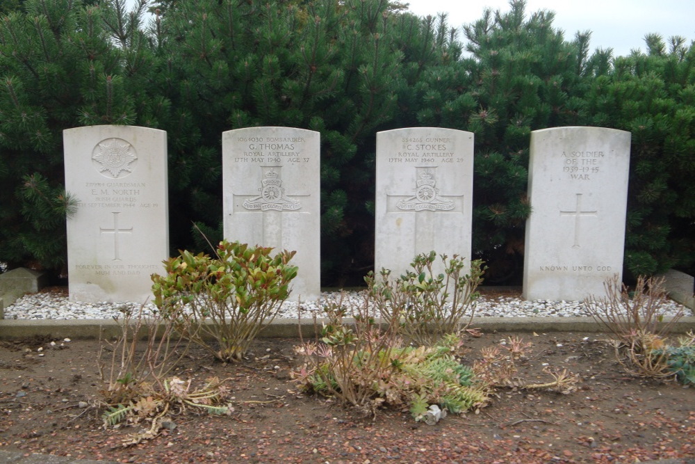
[[[320,296],[320,134],[248,127],[222,134],[224,238],[295,250],[290,299]]]

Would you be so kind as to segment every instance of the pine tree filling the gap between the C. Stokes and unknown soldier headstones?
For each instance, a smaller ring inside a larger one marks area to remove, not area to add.
[[[530,132],[574,125],[582,111],[588,33],[566,42],[553,13],[525,2],[486,10],[464,26],[469,56],[430,68],[418,83],[419,125],[475,133],[473,253],[488,282],[521,282]]]

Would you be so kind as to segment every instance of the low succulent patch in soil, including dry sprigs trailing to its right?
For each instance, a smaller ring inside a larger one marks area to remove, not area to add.
[[[442,337],[434,346],[403,346],[398,337],[384,337],[388,328],[379,333],[374,324],[374,319],[356,318],[353,329],[330,321],[318,342],[297,346],[306,361],[294,373],[302,390],[372,415],[385,406],[407,409],[419,421],[427,420],[434,404],[448,413],[477,410],[489,403],[498,387],[569,394],[579,381],[566,370],[551,369],[546,369],[553,377],[548,383],[515,378],[516,362],[531,346],[518,338],[501,348],[483,349],[482,359],[468,367],[457,358],[461,347],[457,335]]]

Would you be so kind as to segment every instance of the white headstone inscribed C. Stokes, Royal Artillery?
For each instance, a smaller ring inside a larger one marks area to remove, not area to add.
[[[432,250],[468,262],[472,200],[473,133],[439,127],[379,132],[375,271],[401,275],[416,255]]]

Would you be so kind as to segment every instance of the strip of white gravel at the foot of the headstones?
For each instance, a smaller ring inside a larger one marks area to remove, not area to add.
[[[302,302],[304,311],[319,312],[326,301],[340,297],[338,292],[322,294],[316,302]],[[361,301],[357,292],[347,292],[345,298],[351,303]],[[343,301],[347,303],[347,301]],[[122,314],[123,310],[138,312],[140,303],[75,303],[59,294],[40,293],[19,298],[15,304],[6,307],[6,319],[111,319]],[[145,314],[156,309],[154,304],[145,305]],[[692,310],[678,303],[668,301],[662,306],[664,316],[673,316],[679,310],[684,316],[693,316]],[[320,313],[319,313],[320,315]],[[575,317],[591,316],[581,301],[524,301],[520,298],[499,296],[481,298],[477,301],[476,317]],[[284,303],[278,317],[297,319],[297,303]],[[303,316],[308,317],[308,316]]]

